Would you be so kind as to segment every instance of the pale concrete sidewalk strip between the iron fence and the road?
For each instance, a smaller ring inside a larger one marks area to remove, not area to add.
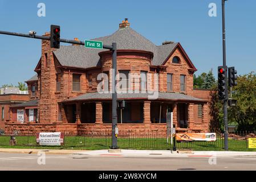
[[[51,149],[25,149],[25,148],[0,148],[0,152],[19,153],[19,154],[37,154],[38,152],[46,154],[72,155],[74,157],[84,156],[123,156],[123,157],[146,157],[146,158],[188,158],[188,157],[210,157],[210,156],[255,156],[256,152],[237,152],[237,151],[177,151],[169,150],[121,150],[121,152],[110,153],[108,150],[51,150]],[[1,155],[1,154],[0,154]]]

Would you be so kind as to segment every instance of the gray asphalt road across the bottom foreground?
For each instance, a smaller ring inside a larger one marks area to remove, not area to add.
[[[131,158],[124,156],[47,155],[0,153],[0,170],[256,170],[255,156],[188,158]],[[214,164],[216,162],[216,164]]]

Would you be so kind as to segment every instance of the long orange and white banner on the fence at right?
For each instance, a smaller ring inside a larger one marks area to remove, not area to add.
[[[178,133],[177,142],[216,141],[216,133]]]

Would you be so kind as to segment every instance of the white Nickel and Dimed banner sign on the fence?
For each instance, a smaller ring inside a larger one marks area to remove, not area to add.
[[[60,146],[63,141],[64,134],[60,132],[36,134],[36,143],[40,146]]]

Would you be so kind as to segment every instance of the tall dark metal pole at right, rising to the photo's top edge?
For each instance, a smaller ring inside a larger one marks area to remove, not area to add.
[[[223,66],[226,66],[226,29],[225,29],[225,1],[222,0],[222,51],[223,51]],[[229,99],[227,93],[227,77],[225,77],[226,82],[226,98],[224,99],[224,149],[227,151],[228,147],[228,133],[227,133],[227,100]]]

